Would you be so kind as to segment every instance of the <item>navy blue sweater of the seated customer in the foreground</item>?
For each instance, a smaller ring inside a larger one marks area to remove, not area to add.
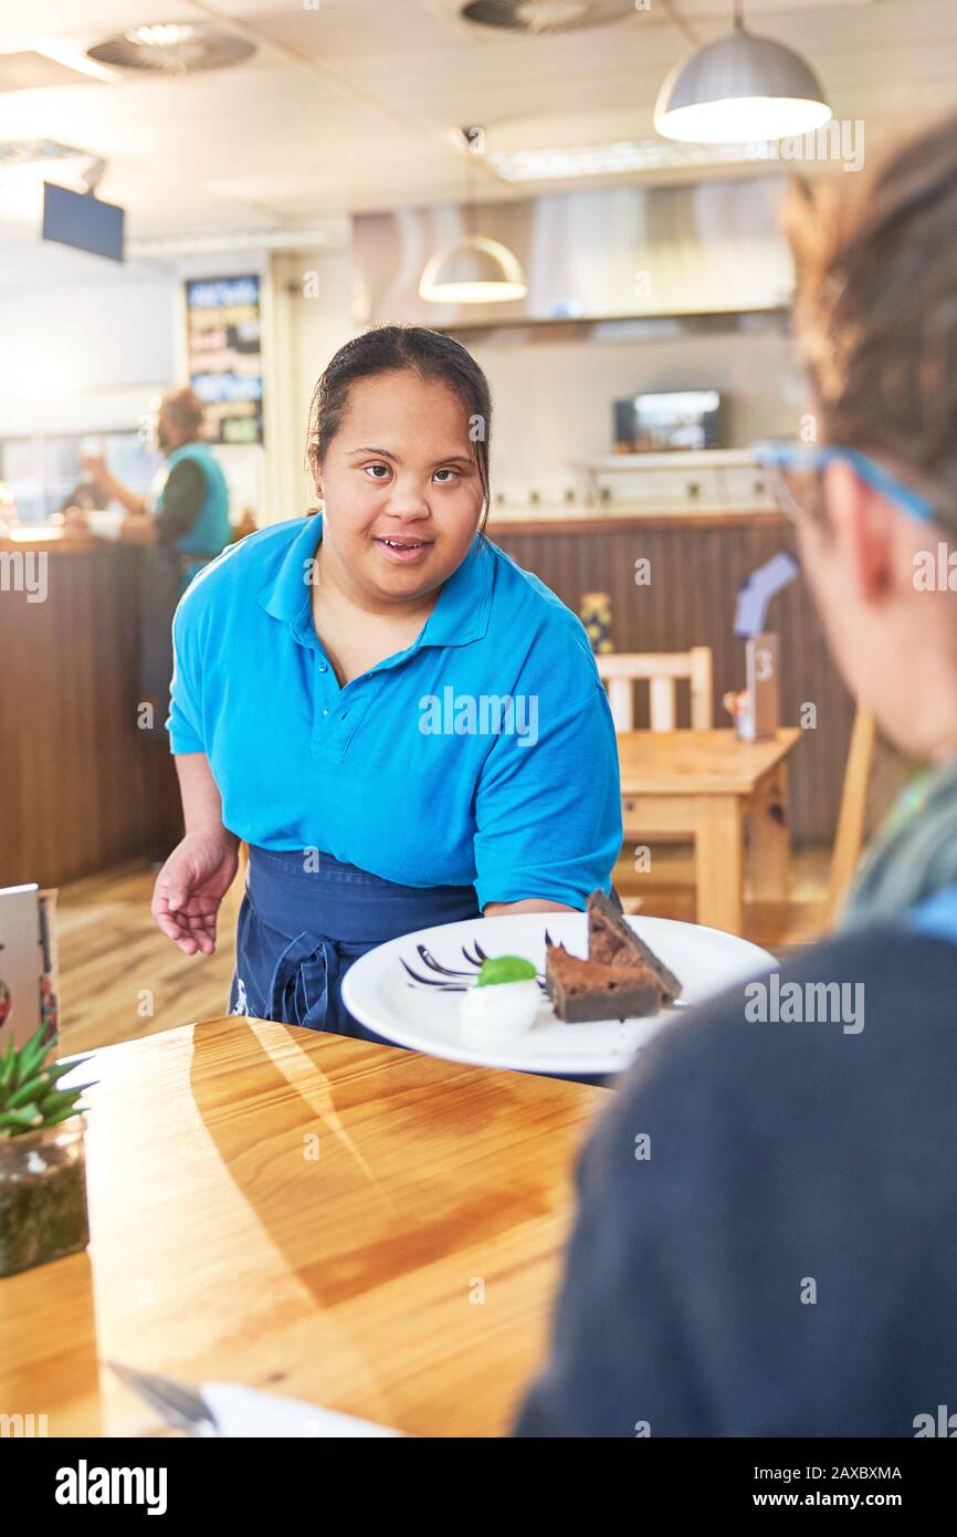
[[[862,1030],[751,1022],[737,990],[619,1081],[515,1434],[914,1436],[957,1411],[957,945],[885,928],[780,968],[820,981],[863,984]]]

